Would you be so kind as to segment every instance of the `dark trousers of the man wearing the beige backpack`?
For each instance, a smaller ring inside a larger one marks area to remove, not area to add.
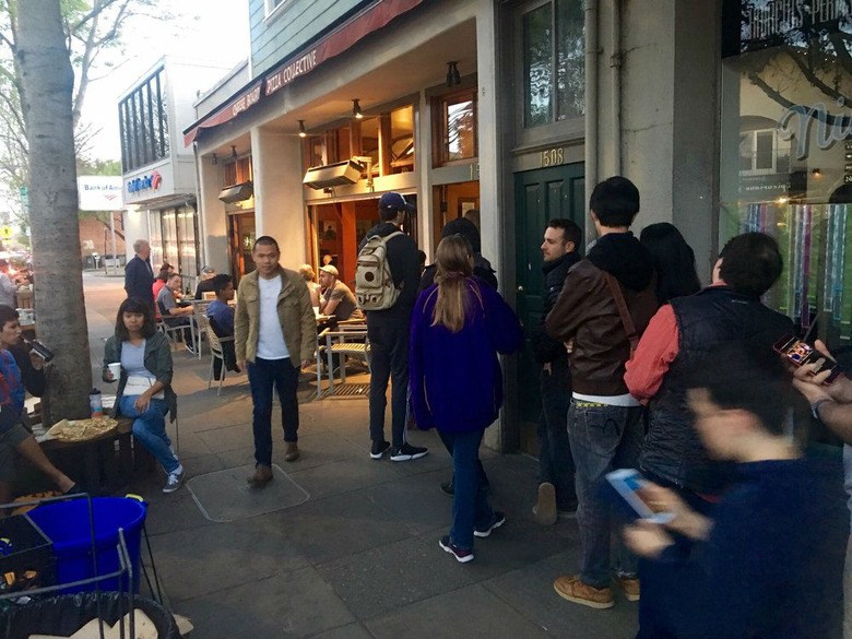
[[[405,443],[409,397],[409,322],[376,326],[367,319],[370,341],[370,439],[384,440],[388,379],[391,386],[391,436],[394,448]]]

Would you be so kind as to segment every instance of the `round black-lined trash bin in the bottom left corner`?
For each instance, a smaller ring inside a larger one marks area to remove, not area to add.
[[[23,606],[14,605],[0,615],[0,637],[3,639],[27,639],[31,635],[70,637],[88,622],[97,618],[97,603],[96,593],[86,592],[36,600]],[[130,597],[127,594],[102,592],[100,618],[113,626],[118,623],[122,613],[129,612],[129,604]],[[137,596],[134,606],[154,623],[157,639],[180,639],[175,617],[157,602]]]

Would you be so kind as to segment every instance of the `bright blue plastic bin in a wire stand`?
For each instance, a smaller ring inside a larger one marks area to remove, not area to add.
[[[133,566],[133,587],[139,590],[139,547],[142,524],[145,521],[145,505],[123,497],[95,497],[92,499],[95,512],[95,546],[97,548],[97,573],[109,575],[119,569],[118,529],[125,530],[130,563]],[[88,501],[74,499],[48,504],[29,511],[29,518],[54,542],[57,583],[71,583],[95,576],[92,566],[92,535],[88,519]],[[127,576],[121,585],[127,588]],[[94,590],[95,585],[76,587],[63,593]],[[118,579],[100,582],[100,590],[119,590]]]

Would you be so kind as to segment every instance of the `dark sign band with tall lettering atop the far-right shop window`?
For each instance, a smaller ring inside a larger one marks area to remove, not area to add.
[[[724,0],[722,56],[805,45],[852,27],[852,0]]]

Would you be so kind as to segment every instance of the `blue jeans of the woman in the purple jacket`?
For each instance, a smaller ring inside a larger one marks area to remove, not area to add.
[[[443,446],[452,454],[455,494],[452,499],[450,541],[460,548],[473,548],[474,526],[484,530],[492,524],[494,511],[488,506],[488,485],[480,461],[483,430],[443,433]]]

